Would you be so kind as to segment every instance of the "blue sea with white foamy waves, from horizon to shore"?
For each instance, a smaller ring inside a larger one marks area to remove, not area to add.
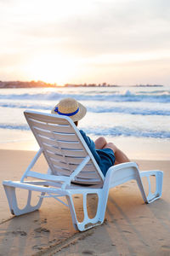
[[[155,152],[152,158],[169,158],[170,87],[167,86],[1,89],[0,148],[32,141],[23,112],[31,109],[50,113],[64,97],[74,97],[88,109],[79,125],[89,137],[105,136],[134,157],[139,156],[141,149],[142,158],[144,152],[145,158],[148,152],[151,155],[151,150]]]

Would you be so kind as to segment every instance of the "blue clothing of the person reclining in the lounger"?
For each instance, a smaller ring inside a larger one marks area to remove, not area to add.
[[[82,134],[83,139],[87,143],[88,148],[94,155],[94,158],[98,163],[101,172],[103,172],[105,176],[107,170],[115,164],[116,158],[113,150],[111,150],[111,148],[96,149],[94,141],[91,140],[91,138],[88,137],[84,131],[80,130],[80,133]]]

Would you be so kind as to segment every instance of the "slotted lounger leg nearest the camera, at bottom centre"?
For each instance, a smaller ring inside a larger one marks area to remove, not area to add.
[[[75,211],[74,207],[74,202],[72,200],[71,195],[67,195],[66,199],[68,201],[70,210],[71,210],[71,217],[72,217],[72,223],[74,225],[74,228],[76,230],[84,231],[93,228],[96,225],[102,224],[104,221],[105,214],[103,214],[103,207],[102,207],[102,201],[103,201],[103,196],[101,193],[97,192],[96,194],[98,195],[98,207],[97,207],[97,212],[94,218],[89,218],[88,217],[88,208],[87,208],[87,195],[89,193],[83,193],[83,213],[84,213],[84,219],[80,223],[77,220],[77,213]]]

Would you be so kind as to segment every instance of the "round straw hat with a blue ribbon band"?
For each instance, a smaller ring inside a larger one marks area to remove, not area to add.
[[[73,122],[82,119],[86,112],[87,109],[73,98],[61,100],[51,111],[51,113],[69,116]]]

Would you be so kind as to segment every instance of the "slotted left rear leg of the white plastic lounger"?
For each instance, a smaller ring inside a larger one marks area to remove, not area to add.
[[[23,209],[20,209],[18,207],[18,203],[17,203],[15,188],[6,186],[6,185],[3,185],[3,186],[5,189],[7,198],[8,198],[8,205],[9,205],[9,208],[10,208],[10,211],[12,214],[21,215],[21,214],[25,214],[28,212],[36,211],[37,209],[39,209],[39,207],[41,207],[42,200],[43,200],[42,197],[39,199],[36,206],[34,206],[34,207],[31,206],[31,190],[28,190],[28,199],[27,199],[26,207],[24,207]],[[42,192],[41,195],[45,195],[45,193]]]

